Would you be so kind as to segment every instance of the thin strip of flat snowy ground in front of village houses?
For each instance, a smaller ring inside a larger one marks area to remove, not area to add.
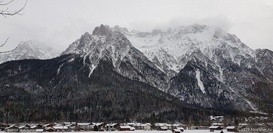
[[[223,130],[223,131],[224,131],[224,133],[234,133],[234,132],[227,132],[227,130]],[[168,131],[135,130],[135,131],[104,131],[104,132],[109,132],[109,133],[172,133],[171,130],[168,130]],[[52,133],[62,133],[62,132],[52,132]],[[100,133],[100,132],[98,132],[98,131],[97,132],[96,131],[87,131],[87,132],[70,132],[70,133]],[[181,133],[213,133],[213,132],[210,132],[210,130],[184,130],[184,132],[181,132]]]

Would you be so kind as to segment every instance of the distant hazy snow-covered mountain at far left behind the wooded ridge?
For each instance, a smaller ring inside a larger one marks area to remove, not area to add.
[[[28,40],[21,44],[17,49],[10,54],[0,55],[0,63],[11,60],[23,59],[51,59],[60,56],[61,51],[46,46],[45,44]]]

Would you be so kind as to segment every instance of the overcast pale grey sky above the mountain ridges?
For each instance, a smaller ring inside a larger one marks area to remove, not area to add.
[[[24,3],[16,0],[8,7]],[[194,23],[219,26],[252,49],[273,51],[272,0],[28,0],[23,12],[0,16],[0,44],[9,37],[0,51],[32,39],[64,51],[100,24],[152,31]]]

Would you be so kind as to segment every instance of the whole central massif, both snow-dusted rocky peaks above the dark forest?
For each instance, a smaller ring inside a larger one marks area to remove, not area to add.
[[[196,106],[239,110],[251,108],[245,105],[253,104],[247,98],[253,93],[264,95],[273,88],[272,51],[252,50],[236,35],[207,25],[129,32],[101,24],[92,35],[86,32],[69,45],[61,56],[68,57],[52,62],[57,65],[51,68],[56,75],[48,77],[58,86],[78,85],[87,79],[94,82],[94,77],[115,85],[129,79]],[[74,67],[76,73],[72,74],[70,68]],[[67,76],[68,70],[71,75]],[[109,79],[113,75],[120,80]]]

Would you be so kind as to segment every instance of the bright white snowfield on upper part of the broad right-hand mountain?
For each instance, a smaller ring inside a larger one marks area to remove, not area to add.
[[[235,35],[206,25],[193,24],[169,28],[167,31],[156,28],[150,33],[132,30],[125,35],[132,45],[142,51],[149,60],[157,59],[158,67],[164,71],[179,72],[185,66],[187,62],[185,60],[196,50],[201,51],[210,60],[219,49],[228,51],[223,57],[235,63],[238,63],[236,59],[234,60],[236,55],[254,57],[253,50],[244,45]]]

